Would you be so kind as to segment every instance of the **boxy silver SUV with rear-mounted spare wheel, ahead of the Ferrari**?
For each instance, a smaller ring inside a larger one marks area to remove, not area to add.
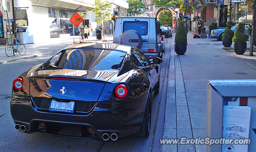
[[[118,17],[114,43],[134,46],[147,57],[162,58],[160,23],[153,17]]]

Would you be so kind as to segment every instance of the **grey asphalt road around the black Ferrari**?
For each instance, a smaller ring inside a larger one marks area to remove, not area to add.
[[[138,138],[137,136],[131,136],[115,142],[103,142],[99,140],[67,138],[38,133],[25,134],[19,132],[15,130],[14,122],[10,115],[12,81],[24,71],[48,59],[50,55],[48,54],[44,55],[43,57],[36,57],[33,59],[23,59],[0,65],[0,151],[150,152],[152,150],[155,138],[154,133],[156,132],[160,101],[162,94],[166,95],[166,93],[162,93],[162,90],[163,87],[166,87],[167,85],[164,84],[164,79],[168,79],[168,75],[166,75],[168,74],[166,73],[168,70],[166,69],[169,68],[168,59],[170,58],[168,55],[170,55],[170,43],[171,38],[166,38],[165,53],[163,56],[163,63],[161,64],[160,93],[158,95],[154,95],[153,98],[152,122],[150,135],[148,138]],[[165,100],[166,97],[163,97],[162,99]],[[24,111],[24,113],[26,113],[26,111]],[[158,121],[164,121],[164,119],[158,119]],[[156,136],[159,138],[159,134]],[[157,144],[158,143],[155,143],[154,145]]]

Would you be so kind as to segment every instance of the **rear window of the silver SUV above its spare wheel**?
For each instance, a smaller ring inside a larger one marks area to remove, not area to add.
[[[123,23],[123,33],[127,30],[137,31],[141,36],[148,35],[148,22],[142,21],[126,21]]]

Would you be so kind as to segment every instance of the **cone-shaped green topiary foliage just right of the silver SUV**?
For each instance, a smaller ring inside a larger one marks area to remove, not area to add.
[[[175,43],[187,43],[187,34],[183,21],[180,21],[180,23],[178,24],[175,34]]]

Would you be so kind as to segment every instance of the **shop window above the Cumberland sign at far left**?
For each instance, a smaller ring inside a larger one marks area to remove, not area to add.
[[[16,26],[28,26],[27,10],[14,10]]]

